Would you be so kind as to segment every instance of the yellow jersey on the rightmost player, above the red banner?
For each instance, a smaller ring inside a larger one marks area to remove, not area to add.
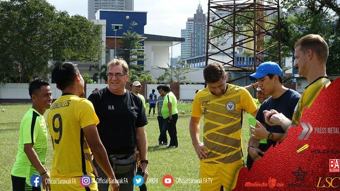
[[[298,104],[295,107],[292,117],[292,125],[298,126],[302,111],[307,107],[308,109],[313,105],[315,98],[319,95],[323,86],[326,88],[331,83],[327,77],[321,77],[309,84],[304,91],[304,94],[300,97]]]

